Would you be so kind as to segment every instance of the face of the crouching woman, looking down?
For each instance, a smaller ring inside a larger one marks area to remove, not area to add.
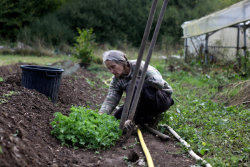
[[[119,78],[125,73],[125,68],[123,64],[115,63],[114,61],[107,60],[105,64],[109,71],[114,74],[115,77]]]

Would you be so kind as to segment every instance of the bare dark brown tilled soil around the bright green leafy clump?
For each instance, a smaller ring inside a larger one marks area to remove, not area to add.
[[[108,150],[96,152],[84,148],[62,147],[50,134],[54,112],[69,114],[72,105],[98,109],[107,90],[95,75],[79,68],[71,76],[63,76],[58,102],[21,86],[20,64],[0,67],[0,166],[146,166],[144,153],[136,134],[118,141]],[[66,69],[65,69],[66,70]],[[95,81],[95,87],[86,81]],[[177,141],[161,141],[142,130],[155,166],[185,167],[195,164],[177,146]],[[133,161],[133,162],[130,162]]]

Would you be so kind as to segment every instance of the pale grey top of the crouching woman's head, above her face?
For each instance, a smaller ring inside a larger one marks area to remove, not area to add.
[[[108,50],[102,55],[103,63],[105,61],[114,61],[116,63],[124,63],[127,62],[126,54],[120,50]]]

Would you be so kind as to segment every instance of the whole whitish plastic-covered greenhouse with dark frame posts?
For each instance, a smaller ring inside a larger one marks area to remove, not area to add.
[[[200,19],[182,24],[185,58],[203,55],[204,63],[212,60],[239,60],[250,52],[250,0]],[[203,53],[203,54],[201,54]],[[201,57],[202,58],[202,57]]]

